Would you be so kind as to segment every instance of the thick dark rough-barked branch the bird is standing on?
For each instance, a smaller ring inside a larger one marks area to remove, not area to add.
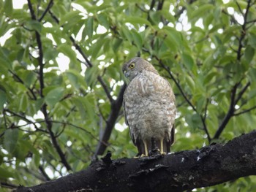
[[[165,156],[110,159],[88,169],[23,191],[184,191],[256,174],[256,131],[226,145]]]

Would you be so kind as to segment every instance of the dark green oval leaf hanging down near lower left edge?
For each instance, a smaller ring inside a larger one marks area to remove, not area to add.
[[[18,142],[18,128],[8,128],[4,132],[4,148],[12,154]]]

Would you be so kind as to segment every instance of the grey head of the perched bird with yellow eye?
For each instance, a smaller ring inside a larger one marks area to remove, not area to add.
[[[150,63],[148,63],[148,61],[144,60],[143,58],[132,58],[127,61],[123,66],[124,76],[127,77],[129,80],[132,80],[143,71],[154,72],[158,74],[157,70],[154,69],[154,66],[152,66]]]

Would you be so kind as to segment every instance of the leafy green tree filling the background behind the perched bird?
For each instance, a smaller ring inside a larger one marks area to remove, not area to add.
[[[121,65],[135,55],[174,88],[174,152],[255,128],[255,1],[28,0],[14,7],[0,0],[1,191],[78,172],[107,147],[113,158],[135,155],[121,110]],[[255,185],[246,177],[197,191]]]

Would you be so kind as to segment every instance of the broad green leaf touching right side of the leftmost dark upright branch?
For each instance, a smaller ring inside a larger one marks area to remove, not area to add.
[[[45,96],[45,102],[53,107],[64,96],[64,88],[54,88]]]

